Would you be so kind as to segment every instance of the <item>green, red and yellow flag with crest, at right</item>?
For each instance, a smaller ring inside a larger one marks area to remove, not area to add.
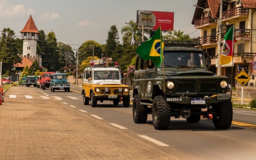
[[[228,64],[232,62],[233,59],[233,28],[232,26],[226,36],[224,37],[224,43],[223,43],[223,48],[221,50],[220,54],[220,65]],[[234,42],[236,42],[236,39],[234,38]]]

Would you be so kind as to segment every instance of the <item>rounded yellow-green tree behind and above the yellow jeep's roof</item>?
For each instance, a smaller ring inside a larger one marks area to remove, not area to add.
[[[88,40],[85,41],[78,49],[81,54],[79,54],[79,60],[86,60],[87,57],[92,56],[93,51],[93,44],[94,44],[94,56],[101,57],[102,56],[102,46],[94,41],[94,40]]]

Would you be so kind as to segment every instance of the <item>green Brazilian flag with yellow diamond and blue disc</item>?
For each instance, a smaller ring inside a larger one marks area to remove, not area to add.
[[[153,60],[155,66],[159,68],[164,58],[164,42],[161,28],[159,27],[148,41],[139,45],[136,52],[143,60]]]

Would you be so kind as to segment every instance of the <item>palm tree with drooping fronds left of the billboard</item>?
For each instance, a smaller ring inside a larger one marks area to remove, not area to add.
[[[138,29],[137,24],[134,20],[130,20],[127,26],[121,28],[121,33],[123,35],[123,43],[124,44],[133,44],[138,45],[142,41],[142,30]],[[144,35],[149,35],[150,31],[144,29]],[[148,40],[146,36],[144,36],[144,41]]]

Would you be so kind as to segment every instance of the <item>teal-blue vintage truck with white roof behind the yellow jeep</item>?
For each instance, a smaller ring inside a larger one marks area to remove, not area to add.
[[[50,88],[51,92],[55,92],[55,90],[65,90],[65,92],[70,92],[70,83],[67,81],[67,75],[65,73],[52,74]]]

